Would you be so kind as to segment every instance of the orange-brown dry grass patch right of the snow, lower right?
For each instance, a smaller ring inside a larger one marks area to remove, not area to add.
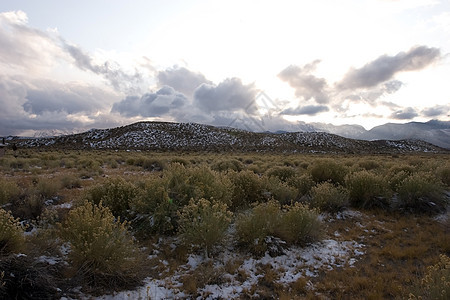
[[[319,294],[332,299],[405,298],[426,267],[435,264],[439,254],[449,251],[448,234],[427,216],[376,212],[362,219],[328,223],[327,232],[338,232],[338,239],[361,240],[366,254],[352,267],[311,278],[314,291],[309,291],[310,297]]]

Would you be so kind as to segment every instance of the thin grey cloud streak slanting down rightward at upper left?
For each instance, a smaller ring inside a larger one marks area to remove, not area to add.
[[[121,69],[121,66],[113,61],[106,61],[103,64],[95,64],[89,54],[81,48],[71,45],[61,39],[64,49],[74,59],[75,65],[81,70],[88,70],[97,75],[103,76],[116,91],[126,94],[139,94],[142,92],[143,75],[138,71],[128,74]]]

